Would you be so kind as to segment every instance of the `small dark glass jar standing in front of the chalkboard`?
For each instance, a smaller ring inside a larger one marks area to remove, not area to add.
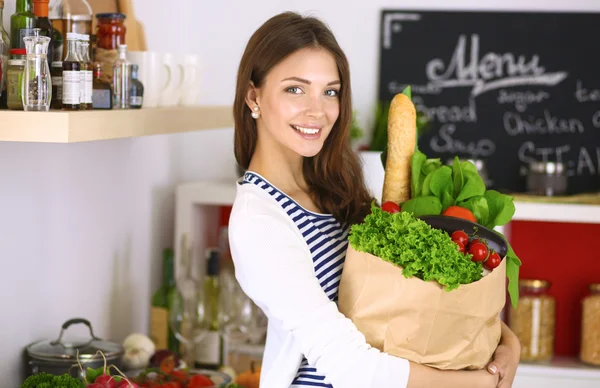
[[[567,192],[567,171],[564,164],[533,162],[527,174],[527,191],[536,195],[563,195]]]

